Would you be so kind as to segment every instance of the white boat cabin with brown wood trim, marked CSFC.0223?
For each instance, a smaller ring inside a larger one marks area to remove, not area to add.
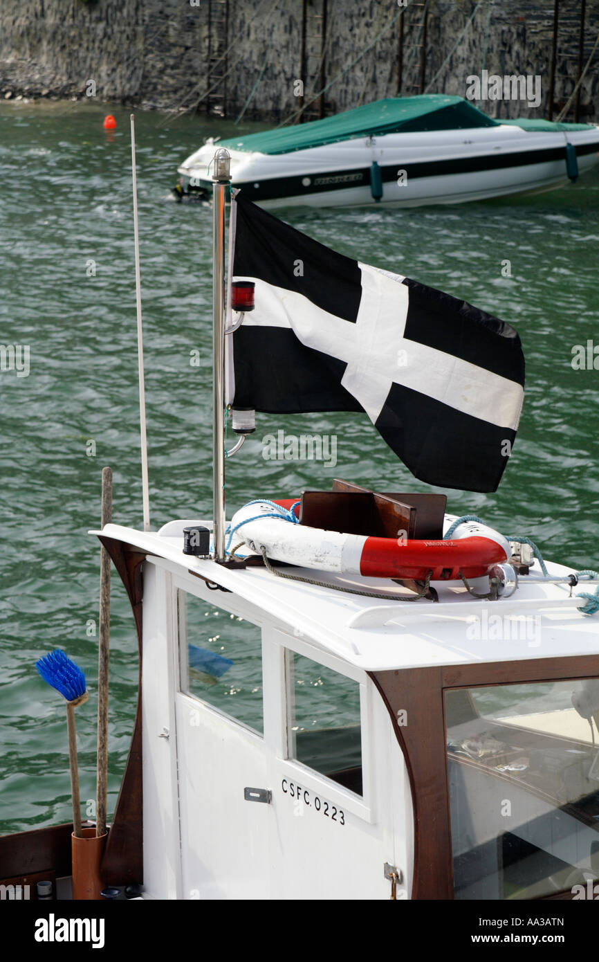
[[[184,554],[192,523],[98,532],[141,658],[107,877],[146,899],[575,898],[599,877],[597,627],[567,584],[533,565],[511,597],[439,580],[406,603]]]

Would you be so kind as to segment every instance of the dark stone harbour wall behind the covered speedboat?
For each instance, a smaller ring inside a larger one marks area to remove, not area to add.
[[[221,110],[280,122],[398,93],[401,0],[1,0],[0,96],[96,95],[169,111]],[[323,7],[326,11],[323,11]],[[428,0],[425,85],[465,95],[468,75],[541,77],[540,106],[496,100],[494,116],[546,116],[554,0]],[[302,24],[306,10],[304,101]],[[422,5],[401,13],[403,95],[419,91]],[[581,0],[561,0],[555,101],[574,87]],[[323,69],[320,27],[326,12]],[[227,15],[225,21],[224,16]],[[226,23],[226,30],[225,30]],[[599,32],[587,0],[585,56]],[[222,52],[222,53],[221,53]],[[212,53],[212,61],[211,61]],[[599,48],[581,87],[581,119],[599,120]],[[223,76],[224,75],[224,76]],[[221,79],[219,79],[219,77]],[[210,87],[212,96],[207,99]],[[571,112],[568,117],[571,118]]]

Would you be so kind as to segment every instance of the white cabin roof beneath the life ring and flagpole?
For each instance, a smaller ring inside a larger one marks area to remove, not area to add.
[[[419,599],[393,602],[331,591],[324,586],[279,578],[261,567],[228,569],[210,559],[183,553],[183,529],[206,520],[176,520],[158,532],[108,524],[106,537],[135,545],[162,558],[173,570],[192,571],[228,588],[260,608],[269,620],[364,671],[468,665],[484,662],[592,655],[599,650],[599,614],[578,610],[577,592],[593,591],[581,582],[539,582],[538,565],[519,578],[510,598],[479,600],[456,582],[432,582],[438,603]],[[546,562],[551,575],[573,568]],[[386,578],[347,578],[323,571],[286,568],[287,574],[399,597],[411,595]],[[480,590],[480,589],[479,589]]]

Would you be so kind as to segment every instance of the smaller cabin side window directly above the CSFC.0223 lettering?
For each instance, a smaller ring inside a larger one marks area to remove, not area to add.
[[[288,757],[362,795],[360,684],[287,650]]]

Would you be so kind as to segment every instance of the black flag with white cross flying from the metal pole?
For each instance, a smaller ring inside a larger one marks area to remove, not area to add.
[[[415,477],[495,491],[524,398],[520,339],[450,294],[349,257],[237,193],[233,280],[253,281],[228,401],[269,414],[365,411]]]

